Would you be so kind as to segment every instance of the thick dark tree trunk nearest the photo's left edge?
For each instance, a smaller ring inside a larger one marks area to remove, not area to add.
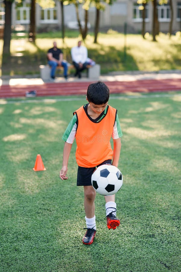
[[[4,44],[2,50],[2,73],[5,64],[9,63],[9,72],[10,72],[10,61],[11,61],[11,54],[10,54],[10,43],[11,43],[11,9],[12,9],[12,2],[11,1],[4,1],[5,4],[5,27],[4,27]]]

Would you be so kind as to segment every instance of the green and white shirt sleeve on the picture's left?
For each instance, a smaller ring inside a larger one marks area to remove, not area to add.
[[[64,135],[62,137],[63,141],[73,144],[73,141],[75,139],[76,129],[77,129],[77,117],[76,114],[73,115],[73,118],[71,119],[70,123],[68,124]]]

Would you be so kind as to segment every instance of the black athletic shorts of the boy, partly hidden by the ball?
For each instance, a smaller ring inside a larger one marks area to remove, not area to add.
[[[112,164],[112,161],[105,160],[105,161],[103,161],[103,163],[99,164],[98,166],[100,166],[102,164]],[[78,166],[77,186],[90,186],[90,185],[92,185],[91,176],[92,176],[92,173],[94,172],[95,169],[96,169],[96,167],[87,168],[87,167]]]

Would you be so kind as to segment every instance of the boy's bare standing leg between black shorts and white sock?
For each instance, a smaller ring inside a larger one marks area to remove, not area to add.
[[[96,191],[91,186],[84,186],[84,209],[87,218],[93,218],[95,215],[95,200]]]

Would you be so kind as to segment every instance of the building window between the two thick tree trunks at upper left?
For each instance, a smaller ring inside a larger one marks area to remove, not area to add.
[[[30,23],[30,3],[23,3],[22,7],[16,8],[16,23]]]

